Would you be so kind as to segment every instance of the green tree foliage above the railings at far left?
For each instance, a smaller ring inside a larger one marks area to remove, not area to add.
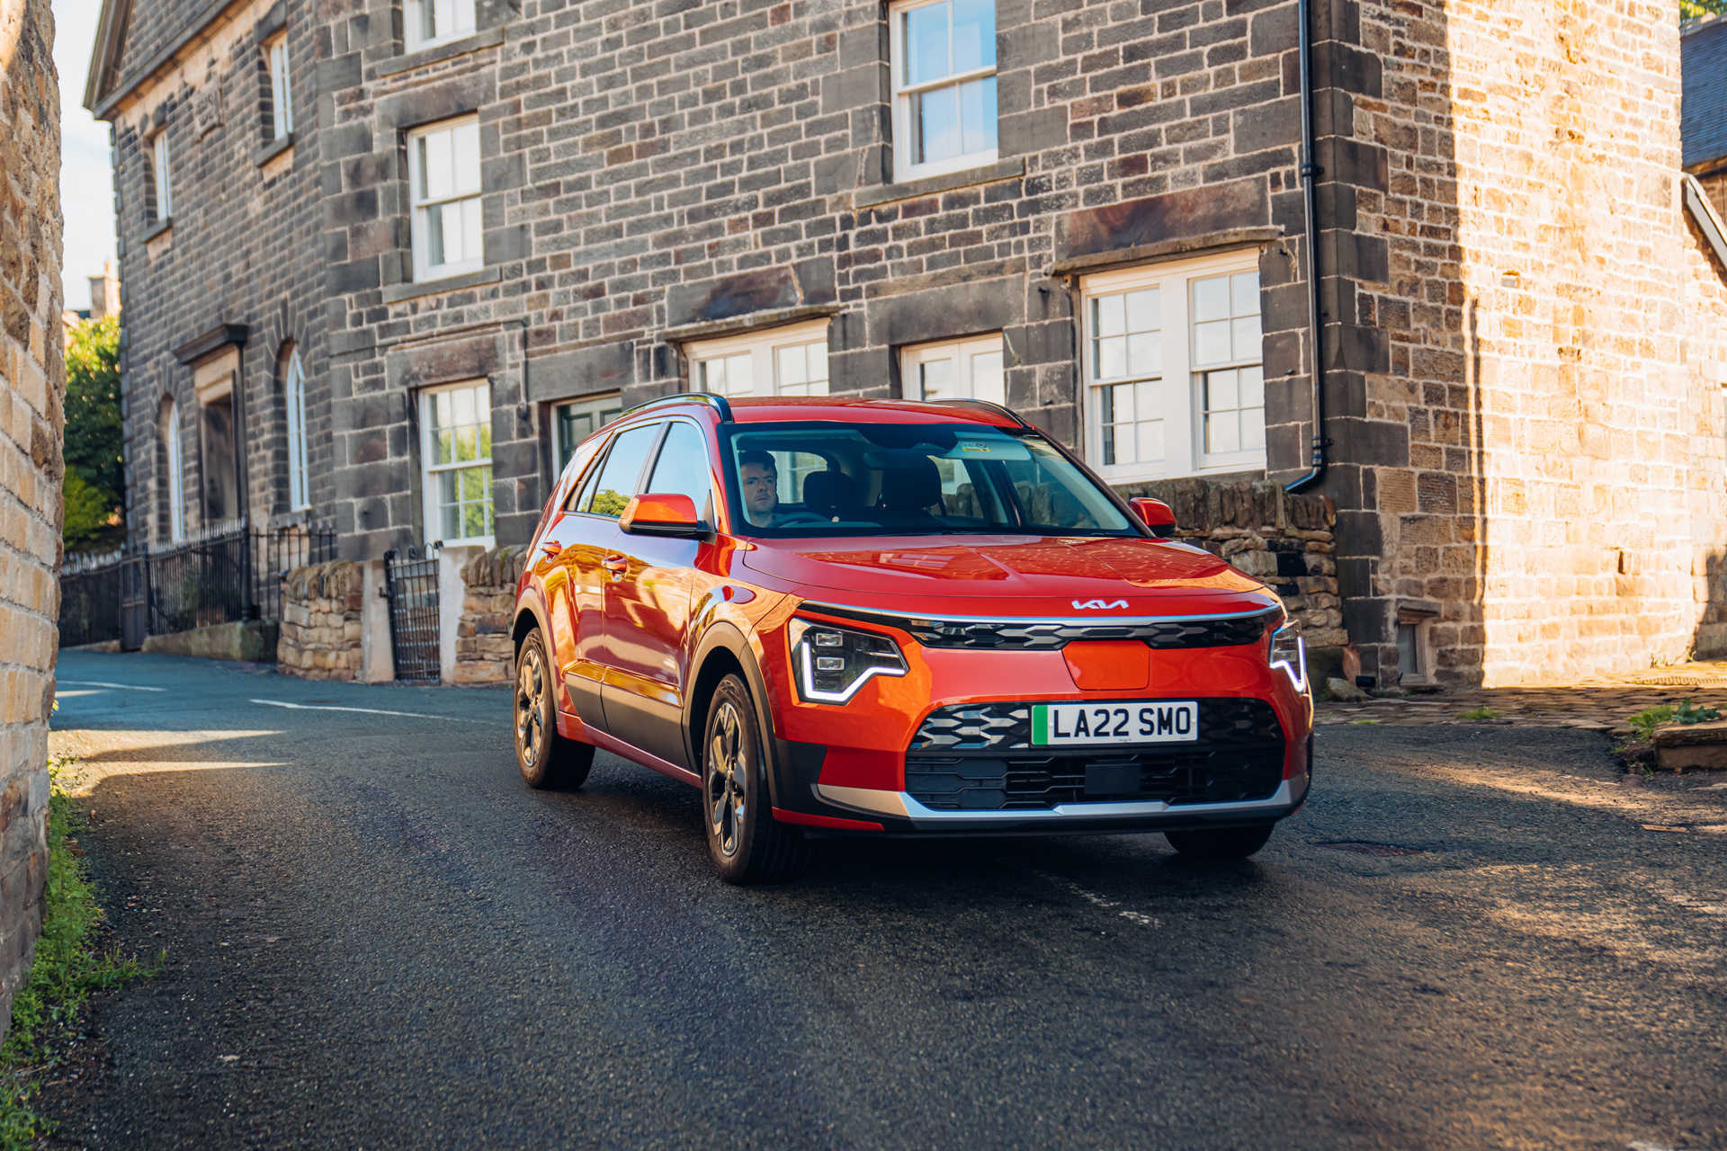
[[[121,506],[119,318],[86,319],[66,349],[67,544],[95,538]]]

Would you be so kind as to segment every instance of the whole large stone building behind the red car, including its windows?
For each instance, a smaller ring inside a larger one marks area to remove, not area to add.
[[[105,0],[130,526],[520,544],[653,395],[976,397],[1383,682],[1722,649],[1679,40],[1677,0]]]

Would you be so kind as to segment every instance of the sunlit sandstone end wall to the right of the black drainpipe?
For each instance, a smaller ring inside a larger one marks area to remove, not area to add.
[[[1333,381],[1351,466],[1328,490],[1359,507],[1338,566],[1363,671],[1394,678],[1413,607],[1439,611],[1449,682],[1679,657],[1724,473],[1675,5],[1349,9],[1378,76],[1333,128],[1383,157],[1349,188],[1356,238],[1383,252],[1338,250],[1332,297],[1354,326]]]

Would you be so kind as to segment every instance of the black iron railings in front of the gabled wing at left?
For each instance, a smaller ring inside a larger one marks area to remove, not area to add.
[[[181,544],[78,557],[60,569],[60,645],[282,618],[288,569],[335,559],[328,525],[249,528],[230,521]]]

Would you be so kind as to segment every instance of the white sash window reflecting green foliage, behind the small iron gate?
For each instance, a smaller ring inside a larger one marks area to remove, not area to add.
[[[492,397],[485,380],[420,393],[427,535],[492,545]]]

